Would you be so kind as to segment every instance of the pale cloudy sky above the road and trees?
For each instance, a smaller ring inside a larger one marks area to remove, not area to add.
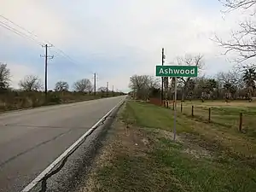
[[[227,71],[232,64],[209,38],[228,38],[240,18],[222,15],[218,0],[0,0],[0,15],[31,33],[36,41],[54,44],[49,55],[49,88],[93,78],[97,85],[127,90],[133,74],[152,74],[161,62],[202,54],[204,73]],[[72,2],[72,3],[71,3]],[[224,16],[224,18],[223,18]],[[3,27],[22,29],[0,17],[0,62],[8,64],[12,85],[27,74],[44,79],[44,48]],[[24,31],[23,31],[24,32]],[[66,55],[60,52],[64,51]]]

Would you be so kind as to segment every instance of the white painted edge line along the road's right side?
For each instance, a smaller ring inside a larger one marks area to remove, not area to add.
[[[83,136],[81,136],[75,143],[73,143],[72,146],[70,146],[69,148],[67,148],[67,150],[64,151],[63,154],[61,154],[55,161],[53,161],[46,169],[44,169],[43,172],[41,172],[41,173],[38,175],[38,177],[36,177],[31,183],[29,183],[28,185],[26,185],[26,187],[25,187],[24,189],[22,189],[20,192],[29,192],[31,189],[33,189],[33,188],[45,177],[45,175],[47,175],[49,172],[51,172],[51,171],[55,168],[55,166],[58,165],[58,164],[61,162],[61,160],[63,160],[63,159],[67,156],[67,154],[69,154],[69,153],[73,150],[73,148],[76,148],[76,147],[84,140],[85,137],[87,137],[87,136],[90,135],[91,131],[94,131],[94,129],[97,127],[97,125],[99,125],[100,123],[102,123],[102,121],[103,121],[104,119],[106,119],[106,118],[109,116],[109,114],[112,113],[115,108],[119,107],[119,105],[120,105],[122,102],[124,102],[124,101],[125,101],[125,99],[122,99],[121,102],[119,102],[119,103],[118,103],[116,106],[114,106],[110,111],[108,111],[108,113],[106,113],[106,114],[102,117],[102,119],[98,120],[98,121],[96,122],[96,124],[93,125],[93,126],[90,128],[90,130],[86,131]]]

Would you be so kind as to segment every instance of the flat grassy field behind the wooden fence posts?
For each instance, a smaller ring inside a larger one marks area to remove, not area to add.
[[[192,118],[192,106],[194,106],[193,119],[200,122],[209,121],[211,124],[221,125],[222,131],[237,133],[241,131],[247,137],[256,138],[256,102],[183,102],[177,103],[177,111],[188,118]],[[240,115],[242,114],[242,119]]]

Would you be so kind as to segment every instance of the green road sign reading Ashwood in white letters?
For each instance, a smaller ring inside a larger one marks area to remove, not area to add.
[[[156,66],[157,77],[197,77],[196,66]]]

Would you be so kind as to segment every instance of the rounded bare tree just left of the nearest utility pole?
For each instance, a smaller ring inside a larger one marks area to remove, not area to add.
[[[22,90],[32,91],[43,88],[42,80],[35,75],[26,75],[23,80],[20,80],[19,86]]]

